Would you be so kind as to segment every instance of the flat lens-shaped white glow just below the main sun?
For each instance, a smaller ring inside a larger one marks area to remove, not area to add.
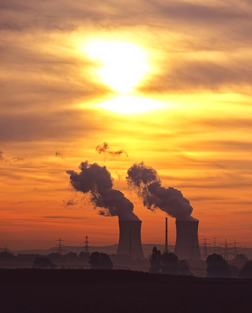
[[[154,109],[160,107],[161,105],[162,103],[159,101],[124,95],[114,98],[113,100],[103,102],[98,106],[119,113],[137,113]]]

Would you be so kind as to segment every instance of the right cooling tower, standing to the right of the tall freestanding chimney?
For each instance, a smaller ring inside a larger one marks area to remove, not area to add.
[[[198,243],[199,221],[176,221],[174,253],[179,259],[202,260]]]

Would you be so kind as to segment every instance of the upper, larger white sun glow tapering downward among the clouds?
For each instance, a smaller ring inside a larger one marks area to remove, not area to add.
[[[87,52],[104,64],[98,71],[104,82],[121,93],[131,92],[147,70],[144,53],[134,44],[96,42]]]

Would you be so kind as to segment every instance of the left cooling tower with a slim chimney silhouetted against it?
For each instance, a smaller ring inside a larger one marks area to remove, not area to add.
[[[141,242],[142,221],[118,221],[119,242],[116,254],[128,255],[132,260],[144,259]],[[130,253],[131,252],[131,253]],[[131,255],[130,255],[131,254]]]

